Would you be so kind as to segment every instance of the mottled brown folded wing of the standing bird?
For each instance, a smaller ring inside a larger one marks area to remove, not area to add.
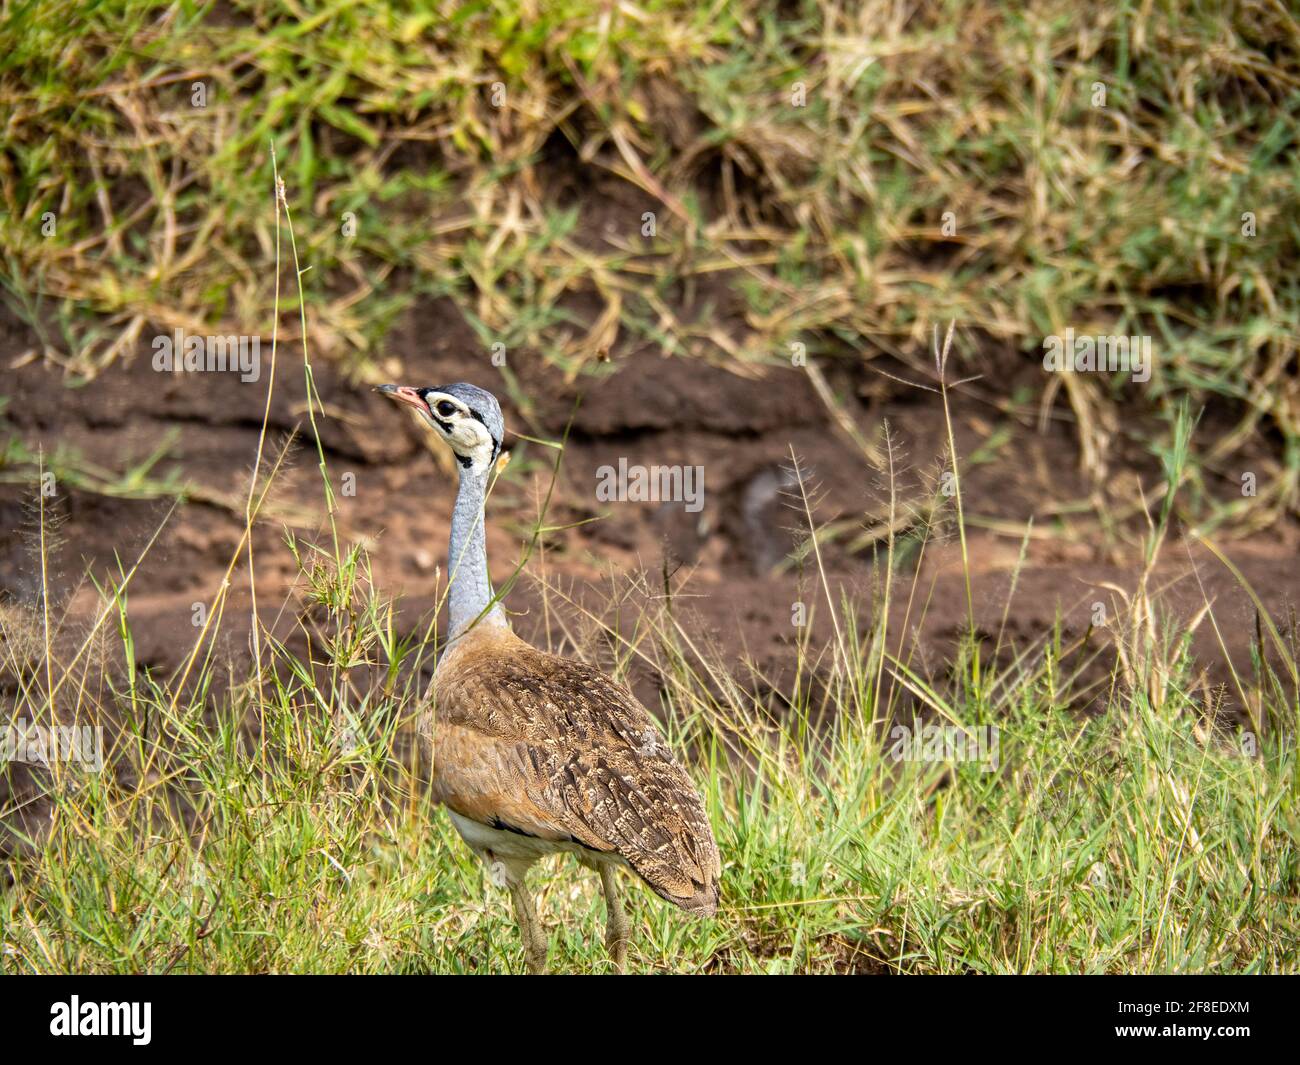
[[[618,854],[662,897],[714,913],[708,818],[645,707],[598,670],[477,632],[436,675],[438,797],[485,824]]]

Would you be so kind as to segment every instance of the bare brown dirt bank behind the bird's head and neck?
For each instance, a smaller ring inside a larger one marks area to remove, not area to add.
[[[68,388],[40,360],[20,359],[32,343],[14,320],[0,324],[0,364],[10,368],[4,386],[10,399],[6,436],[32,451],[38,446],[47,453],[70,449],[121,472],[172,433],[166,458],[152,476],[174,468],[200,489],[172,515],[130,593],[138,661],[174,666],[196,632],[192,605],[211,601],[243,527],[243,497],[269,378],[269,343],[263,350],[263,377],[255,384],[243,384],[235,375],[156,373],[150,350],[142,346],[134,358],[82,388]],[[541,360],[515,355],[507,382],[445,304],[412,315],[390,338],[390,351],[391,365],[385,371],[394,378],[430,385],[468,380],[493,389],[511,429],[559,438],[572,416],[547,516],[552,525],[572,527],[547,537],[528,572],[571,589],[577,602],[603,603],[610,580],[618,585],[633,573],[649,575],[649,590],[637,594],[658,594],[662,572],[676,571],[672,586],[680,616],[729,661],[751,659],[779,687],[793,663],[798,635],[793,603],[816,603],[815,636],[829,637],[811,567],[801,572],[783,564],[805,524],[788,472],[793,453],[806,473],[818,523],[831,531],[822,557],[832,589],[838,594],[844,588],[861,601],[862,624],[870,624],[871,593],[880,579],[875,551],[883,541],[878,537],[876,546],[855,546],[854,541],[887,519],[889,477],[868,464],[802,371],[755,367],[753,376],[742,377],[642,352],[612,367],[603,380],[569,384]],[[988,371],[997,376],[1000,393],[1008,394],[1009,385],[1032,384],[1037,373],[1032,359],[1014,352],[997,352]],[[317,421],[335,489],[343,475],[355,477],[356,494],[339,497],[341,532],[369,545],[377,585],[402,594],[403,623],[413,628],[434,603],[454,473],[432,450],[436,445],[370,393],[372,382],[347,380],[329,364],[316,365],[315,373],[328,408],[328,416]],[[926,671],[941,672],[966,614],[952,507],[931,512],[946,450],[942,411],[933,393],[909,389],[870,368],[858,373],[831,384],[837,395],[846,397],[845,414],[878,455],[885,455],[881,428],[887,421],[892,434],[900,568],[890,629],[906,644],[915,640],[915,661]],[[575,414],[576,399],[581,402]],[[1049,419],[1040,429],[1036,411],[1009,407],[980,381],[963,386],[953,399],[957,446],[965,456],[962,489],[971,519],[980,629],[993,638],[1005,632],[1023,648],[1045,638],[1058,618],[1066,638],[1083,637],[1097,602],[1105,603],[1109,619],[1117,618],[1123,599],[1117,589],[1131,590],[1140,572],[1138,547],[1145,521],[1138,493],[1144,488],[1148,499],[1154,498],[1156,462],[1136,445],[1136,437],[1121,433],[1109,480],[1089,485],[1078,472],[1072,427],[1065,417]],[[272,612],[296,572],[283,544],[283,524],[311,538],[322,521],[315,449],[306,436],[302,356],[296,345],[287,343],[280,351],[266,453],[273,455],[295,429],[302,436],[277,481],[269,518],[255,534],[259,597],[272,605]],[[498,581],[510,575],[528,537],[554,458],[554,451],[514,436],[507,447],[511,466],[497,485],[489,515],[489,551]],[[646,466],[703,467],[703,508],[689,514],[680,503],[598,502],[597,471],[616,466],[620,458]],[[1230,477],[1218,488],[1230,492]],[[30,485],[0,485],[0,593],[18,605],[32,603],[39,592],[31,498]],[[73,615],[88,614],[94,593],[84,575],[103,579],[114,572],[114,558],[126,566],[134,562],[169,506],[168,499],[114,498],[61,484],[49,501],[57,520],[53,598],[68,603]],[[1098,512],[1115,515],[1113,527],[1098,523]],[[1020,553],[1019,528],[1030,519],[1035,532],[1008,607]],[[920,532],[927,523],[931,536],[922,553]],[[1292,619],[1300,602],[1297,529],[1278,527],[1222,546],[1294,641]],[[919,580],[909,609],[906,592],[914,573]],[[1227,658],[1219,636],[1201,624],[1195,651],[1208,681],[1228,681],[1227,662],[1251,675],[1254,607],[1213,555],[1171,540],[1152,586],[1174,616],[1191,618],[1205,598],[1213,602]],[[246,602],[240,570],[225,623],[224,646],[231,653],[239,653],[246,636]],[[540,638],[545,619],[537,584],[521,581],[511,606],[520,611],[521,631]],[[1095,642],[1106,638],[1105,628],[1092,635]]]

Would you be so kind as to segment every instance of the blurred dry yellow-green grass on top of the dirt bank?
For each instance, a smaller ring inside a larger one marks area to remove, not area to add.
[[[1277,0],[781,18],[118,0],[9,4],[0,34],[0,247],[12,302],[73,376],[152,330],[265,326],[273,140],[313,350],[363,378],[437,294],[478,358],[526,347],[569,375],[646,347],[755,373],[794,343],[924,372],[926,324],[948,319],[971,372],[1008,345],[1037,358],[1066,326],[1147,333],[1157,375],[1124,401],[1228,411],[1210,466],[1280,436],[1239,510],[1300,501],[1300,27]],[[1100,485],[1121,397],[1063,381],[1036,402],[1067,403]]]

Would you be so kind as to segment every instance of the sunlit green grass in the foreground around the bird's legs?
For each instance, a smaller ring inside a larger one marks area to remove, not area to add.
[[[251,677],[205,697],[211,666],[178,697],[130,672],[129,644],[90,684],[61,664],[60,719],[114,707],[110,771],[60,767],[40,788],[49,823],[8,862],[0,902],[5,970],[521,970],[507,895],[430,809],[410,756],[426,651],[394,636],[359,553],[311,558],[317,609],[303,614],[330,650],[272,645],[264,701]],[[17,625],[6,614],[10,668]],[[31,628],[29,718],[44,706]],[[1206,726],[1178,638],[1167,657],[1148,648],[1131,681],[1115,663],[1106,713],[1083,715],[1089,684],[1050,640],[978,689],[968,671],[936,689],[875,632],[842,657],[806,649],[776,718],[666,615],[647,607],[641,632],[627,650],[667,677],[724,873],[714,921],[633,892],[633,970],[1295,970],[1294,683],[1243,679],[1264,711],[1247,740]],[[871,710],[906,689],[932,718],[994,723],[997,771],[893,761]],[[811,727],[827,706],[833,723]],[[571,860],[542,870],[554,967],[604,971],[594,876]]]

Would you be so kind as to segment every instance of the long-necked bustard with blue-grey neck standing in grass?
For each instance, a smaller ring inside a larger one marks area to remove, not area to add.
[[[447,641],[419,726],[433,797],[510,891],[530,973],[546,971],[547,935],[525,876],[554,853],[599,874],[606,951],[621,973],[630,925],[620,869],[688,913],[718,910],[722,865],[699,792],[630,690],[512,631],[488,575],[485,502],[504,440],[497,398],[463,382],[378,391],[451,447],[459,473]]]

